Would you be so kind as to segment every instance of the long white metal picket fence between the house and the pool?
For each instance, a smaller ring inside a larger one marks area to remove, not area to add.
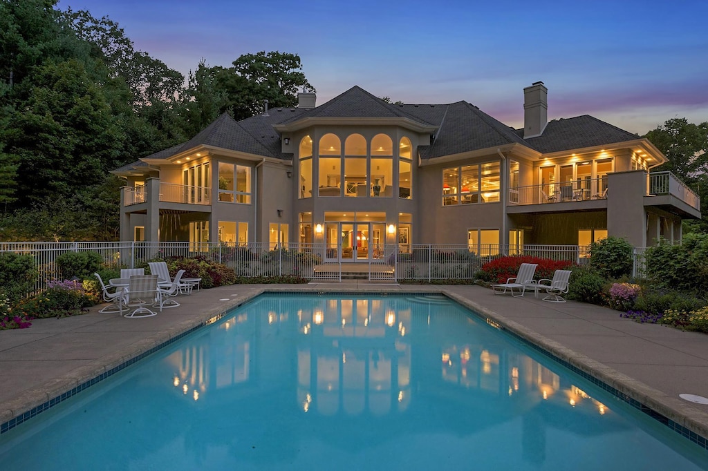
[[[342,279],[343,274],[356,272],[366,274],[368,279],[389,281],[474,279],[474,274],[484,263],[501,255],[528,255],[577,264],[585,264],[590,257],[589,247],[578,245],[394,244],[385,245],[380,258],[350,264],[344,260],[326,259],[326,250],[324,244],[300,243],[0,243],[0,255],[2,252],[14,252],[34,258],[39,273],[35,291],[44,289],[51,279],[62,279],[63,274],[56,260],[67,252],[98,252],[105,267],[112,269],[144,267],[149,260],[156,259],[201,257],[224,264],[239,277]],[[644,249],[634,251],[635,276],[641,276],[644,272],[643,253]]]

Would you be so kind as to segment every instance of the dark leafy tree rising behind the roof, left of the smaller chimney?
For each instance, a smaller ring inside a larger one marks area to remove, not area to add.
[[[297,90],[314,91],[305,78],[297,54],[288,52],[258,52],[244,54],[234,66],[216,68],[217,86],[227,95],[226,109],[235,120],[243,120],[269,107],[297,105]]]

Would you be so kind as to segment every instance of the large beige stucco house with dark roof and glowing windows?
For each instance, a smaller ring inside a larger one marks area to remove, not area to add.
[[[680,240],[700,200],[647,139],[583,115],[547,120],[547,88],[524,88],[524,127],[465,101],[392,105],[355,86],[324,105],[236,122],[114,170],[127,180],[121,240],[299,243],[325,261],[395,245],[636,247]]]

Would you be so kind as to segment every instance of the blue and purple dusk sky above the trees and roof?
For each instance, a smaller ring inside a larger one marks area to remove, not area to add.
[[[358,85],[404,103],[466,100],[514,127],[543,81],[549,119],[644,134],[708,121],[708,1],[60,0],[108,16],[187,76],[204,58],[298,54],[321,105]]]

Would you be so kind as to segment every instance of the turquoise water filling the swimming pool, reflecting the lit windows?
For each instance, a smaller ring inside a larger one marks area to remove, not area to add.
[[[261,296],[0,436],[2,470],[699,470],[440,296]]]

